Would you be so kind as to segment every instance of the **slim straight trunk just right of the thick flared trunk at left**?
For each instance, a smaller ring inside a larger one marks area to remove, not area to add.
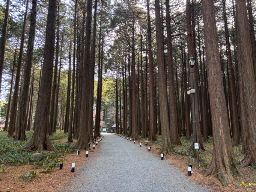
[[[54,106],[55,106],[55,97],[57,89],[57,80],[58,80],[58,62],[59,62],[59,44],[60,44],[60,1],[57,1],[57,34],[56,34],[56,55],[55,55],[55,66],[54,66],[54,75],[53,75],[53,89],[52,89],[52,100],[51,100],[51,109],[50,109],[50,122],[48,133],[52,135],[53,132],[53,118],[54,118]],[[55,128],[56,131],[56,128]]]

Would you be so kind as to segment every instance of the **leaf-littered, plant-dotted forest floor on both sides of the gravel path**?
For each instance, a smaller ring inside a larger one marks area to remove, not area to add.
[[[7,132],[0,131],[0,192],[7,191],[47,191],[53,192],[61,189],[76,174],[71,173],[71,164],[76,163],[76,170],[90,158],[85,157],[85,150],[81,150],[80,156],[77,156],[76,150],[70,149],[73,143],[68,143],[67,134],[57,131],[50,136],[56,152],[44,151],[44,158],[40,161],[33,161],[29,157],[32,153],[22,151],[31,140],[33,131],[26,132],[27,141],[16,141],[6,138]],[[124,140],[124,138],[122,138]],[[162,141],[161,136],[157,136],[157,141],[149,144],[151,151],[149,153],[158,156]],[[141,141],[143,139],[140,139]],[[145,140],[145,139],[144,139]],[[192,138],[186,140],[185,137],[180,137],[182,145],[174,146],[177,152],[172,156],[167,155],[165,161],[168,161],[172,166],[179,168],[189,180],[207,187],[212,191],[256,191],[256,186],[250,183],[256,183],[256,165],[241,169],[243,176],[235,177],[227,188],[224,188],[219,180],[213,176],[203,177],[204,172],[208,168],[212,159],[213,140],[210,138],[204,142],[206,151],[199,150],[199,155],[205,159],[203,163],[192,163],[189,157],[193,151],[188,150],[192,143]],[[76,140],[75,140],[76,141]],[[104,140],[103,140],[104,141]],[[128,142],[128,141],[127,141]],[[130,142],[129,142],[130,143]],[[102,143],[98,143],[96,149],[89,152],[89,157],[99,153],[99,147]],[[136,146],[139,145],[136,141]],[[142,146],[143,150],[148,151],[148,147]],[[241,153],[242,146],[234,147],[237,164],[241,164],[244,155]],[[34,152],[36,153],[36,152]],[[63,162],[63,169],[58,169],[58,163]],[[194,173],[188,176],[188,164],[193,165]],[[36,172],[36,174],[35,174]]]

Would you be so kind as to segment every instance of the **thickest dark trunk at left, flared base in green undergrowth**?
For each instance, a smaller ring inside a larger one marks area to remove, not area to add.
[[[56,0],[49,2],[44,45],[44,64],[42,68],[42,80],[39,88],[35,114],[35,132],[26,148],[27,150],[55,151],[55,148],[48,137],[47,125],[49,125],[49,100],[51,99],[52,90],[56,7]]]

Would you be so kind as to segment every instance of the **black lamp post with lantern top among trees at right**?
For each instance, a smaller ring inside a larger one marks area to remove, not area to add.
[[[196,110],[195,110],[195,88],[194,88],[194,65],[196,59],[194,57],[190,57],[188,59],[188,63],[191,67],[191,90],[188,91],[188,94],[192,93],[192,118],[193,118],[193,143],[194,143],[194,155],[193,158],[196,158],[196,149],[195,143],[197,143],[197,134],[196,134]]]

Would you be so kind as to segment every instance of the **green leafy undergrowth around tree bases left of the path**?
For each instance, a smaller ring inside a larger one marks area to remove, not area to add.
[[[5,172],[6,165],[8,166],[18,166],[30,164],[33,166],[44,167],[47,170],[52,170],[54,166],[58,166],[59,163],[65,161],[65,156],[67,153],[75,152],[75,149],[70,149],[71,143],[54,142],[54,140],[59,140],[67,137],[67,134],[62,132],[56,132],[49,136],[52,141],[53,146],[56,148],[55,152],[44,151],[42,160],[35,160],[30,158],[34,153],[39,153],[39,151],[28,152],[23,150],[31,140],[33,131],[26,131],[26,141],[19,141],[7,138],[7,132],[0,132],[0,165],[2,172]],[[33,174],[33,172],[32,172]],[[31,176],[31,175],[30,175]]]

